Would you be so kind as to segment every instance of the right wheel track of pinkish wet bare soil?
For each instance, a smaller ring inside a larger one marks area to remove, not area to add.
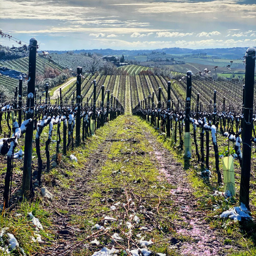
[[[240,250],[235,244],[225,245],[223,234],[216,228],[211,228],[205,221],[206,214],[200,210],[200,199],[193,196],[193,188],[186,179],[186,172],[181,163],[160,143],[146,134],[154,148],[154,154],[158,160],[158,169],[164,173],[170,184],[176,188],[171,191],[174,206],[170,210],[175,210],[179,217],[186,223],[185,226],[176,227],[177,233],[181,233],[191,238],[190,241],[177,243],[174,245],[182,255],[201,256],[201,255],[227,255],[229,249]],[[234,242],[234,241],[233,241]]]

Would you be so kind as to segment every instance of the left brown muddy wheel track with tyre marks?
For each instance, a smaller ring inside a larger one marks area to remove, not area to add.
[[[110,137],[112,136],[113,134],[110,134]],[[104,140],[102,143],[95,145],[93,152],[87,158],[87,162],[82,169],[73,168],[73,170],[70,170],[67,169],[65,164],[62,165],[61,172],[71,179],[68,188],[59,187],[51,190],[54,197],[58,198],[47,209],[52,213],[51,221],[53,225],[51,226],[51,231],[55,233],[55,238],[52,245],[41,255],[71,255],[66,254],[68,248],[78,242],[77,238],[83,232],[77,225],[71,223],[72,218],[74,216],[76,218],[82,216],[84,209],[88,207],[87,194],[91,187],[87,184],[98,175],[100,166],[104,165],[110,143],[110,141]],[[69,177],[67,170],[75,172],[75,175]]]

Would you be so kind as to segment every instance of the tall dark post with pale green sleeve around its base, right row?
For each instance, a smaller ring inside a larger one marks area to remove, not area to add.
[[[186,110],[185,110],[185,137],[184,137],[184,157],[191,158],[191,142],[190,142],[190,127],[189,127],[189,117],[190,117],[190,103],[191,103],[191,90],[192,90],[192,75],[193,73],[189,70],[187,71],[187,91],[186,91]]]

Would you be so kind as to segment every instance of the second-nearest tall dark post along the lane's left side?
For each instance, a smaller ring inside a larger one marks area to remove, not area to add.
[[[80,126],[81,126],[81,75],[82,68],[77,67],[77,76],[76,76],[76,146],[80,145]]]

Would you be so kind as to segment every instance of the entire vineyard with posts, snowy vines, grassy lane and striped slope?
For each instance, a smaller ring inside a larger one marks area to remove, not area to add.
[[[0,111],[4,255],[256,253],[255,49],[245,84],[77,67],[51,99],[30,44]]]

